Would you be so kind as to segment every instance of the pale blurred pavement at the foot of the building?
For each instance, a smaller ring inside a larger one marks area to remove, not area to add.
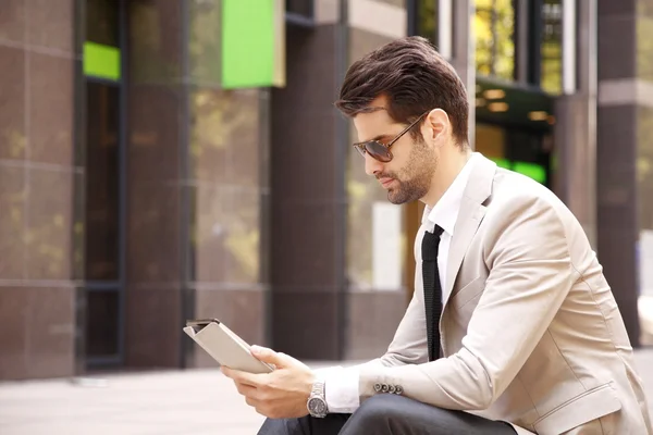
[[[636,358],[651,406],[653,349]],[[250,435],[262,421],[215,369],[0,383],[1,435]]]

